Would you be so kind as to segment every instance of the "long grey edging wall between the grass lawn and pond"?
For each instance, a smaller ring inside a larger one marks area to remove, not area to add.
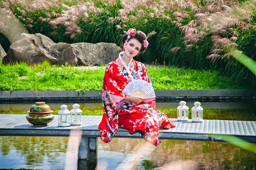
[[[201,101],[245,101],[255,100],[253,90],[155,90],[159,102]],[[101,102],[101,91],[0,91],[0,102],[31,102],[31,101],[79,101]]]

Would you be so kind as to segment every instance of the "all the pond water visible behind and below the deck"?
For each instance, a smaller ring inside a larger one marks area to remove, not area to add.
[[[0,104],[0,114],[26,114],[32,104]],[[60,110],[61,104],[48,104]],[[69,108],[72,104],[67,103]],[[101,103],[80,104],[82,110],[101,110]],[[189,108],[193,103],[187,104]],[[204,115],[208,109],[214,119],[256,121],[251,104],[238,102],[202,103]],[[157,103],[157,108],[172,110],[177,103]],[[225,110],[225,112],[222,110]],[[236,114],[234,114],[236,112]],[[214,114],[218,113],[218,114]],[[171,114],[174,116],[173,114]],[[240,115],[243,115],[242,117]],[[175,118],[175,117],[173,117]],[[98,139],[96,165],[86,170],[255,170],[256,150],[250,151],[234,144],[208,141],[161,140],[158,147],[144,139],[115,138],[108,144]],[[67,163],[68,137],[0,137],[0,170],[63,170]],[[83,167],[79,167],[81,170]]]

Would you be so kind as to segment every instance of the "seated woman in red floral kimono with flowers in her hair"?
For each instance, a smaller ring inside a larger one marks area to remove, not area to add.
[[[155,97],[143,99],[122,93],[124,87],[134,79],[143,79],[151,84],[146,67],[133,59],[148,47],[147,36],[142,31],[129,29],[122,36],[123,51],[106,68],[102,101],[103,118],[99,124],[101,139],[108,143],[118,127],[129,133],[139,132],[151,144],[158,146],[159,128],[173,128],[173,122],[155,108]],[[152,85],[152,84],[151,84]]]

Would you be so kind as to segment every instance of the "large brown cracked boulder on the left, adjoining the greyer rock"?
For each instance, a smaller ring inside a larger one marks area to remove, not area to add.
[[[22,33],[20,40],[11,44],[7,56],[3,58],[3,63],[26,62],[33,64],[48,60],[51,64],[58,64],[61,60],[60,62],[63,64],[65,57],[68,57],[67,59],[70,59],[70,55],[76,57],[76,51],[70,50],[70,48],[72,49],[70,44],[55,43],[40,33]],[[69,61],[67,60],[67,62]],[[77,64],[77,60],[76,62],[71,61],[68,64]]]

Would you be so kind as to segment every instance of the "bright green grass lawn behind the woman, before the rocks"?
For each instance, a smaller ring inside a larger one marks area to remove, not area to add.
[[[106,65],[56,66],[48,62],[0,66],[0,91],[101,90]],[[247,89],[217,71],[148,65],[155,90]]]

